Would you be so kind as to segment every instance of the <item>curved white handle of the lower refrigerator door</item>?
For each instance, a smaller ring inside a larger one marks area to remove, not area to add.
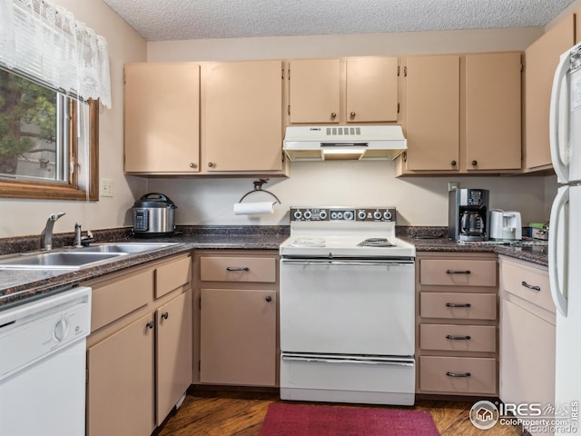
[[[555,302],[556,309],[561,313],[561,315],[566,317],[567,301],[564,294],[564,289],[561,289],[561,283],[559,283],[558,269],[557,269],[557,237],[559,233],[559,218],[565,204],[569,201],[569,188],[567,186],[560,187],[556,192],[555,201],[553,202],[553,207],[551,208],[551,231],[548,233],[548,278],[551,287],[551,295],[553,296],[553,301]],[[565,260],[564,260],[565,261]],[[564,266],[565,267],[565,266]]]

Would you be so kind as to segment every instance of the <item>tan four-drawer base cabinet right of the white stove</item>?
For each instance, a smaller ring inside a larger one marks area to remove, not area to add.
[[[497,256],[418,253],[418,393],[497,395]]]

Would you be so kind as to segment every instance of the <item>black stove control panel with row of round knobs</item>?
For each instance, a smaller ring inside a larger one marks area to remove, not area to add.
[[[396,208],[389,207],[291,207],[291,221],[309,222],[390,222],[396,221]]]

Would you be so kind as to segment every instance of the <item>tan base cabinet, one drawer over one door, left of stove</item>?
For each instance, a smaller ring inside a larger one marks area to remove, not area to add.
[[[197,251],[194,260],[194,382],[277,386],[278,252]]]

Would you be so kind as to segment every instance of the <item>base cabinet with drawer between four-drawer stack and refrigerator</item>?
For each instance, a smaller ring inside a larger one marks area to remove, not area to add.
[[[553,405],[556,308],[547,268],[501,257],[500,293],[498,396],[516,404]]]

